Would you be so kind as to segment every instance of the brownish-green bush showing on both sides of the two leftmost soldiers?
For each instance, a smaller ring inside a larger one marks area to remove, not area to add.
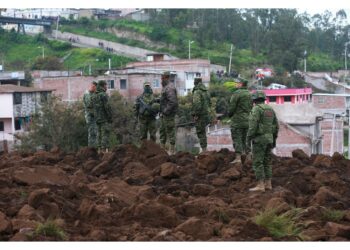
[[[110,96],[113,123],[111,124],[110,147],[138,141],[135,131],[133,105],[118,92]],[[17,135],[21,152],[37,149],[50,150],[57,146],[64,152],[76,152],[87,146],[87,126],[81,101],[64,103],[57,97],[42,103],[41,113],[34,114],[27,133]]]

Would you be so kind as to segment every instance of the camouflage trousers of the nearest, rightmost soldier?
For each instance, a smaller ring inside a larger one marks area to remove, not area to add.
[[[253,169],[259,181],[272,177],[271,150],[270,143],[253,143]]]

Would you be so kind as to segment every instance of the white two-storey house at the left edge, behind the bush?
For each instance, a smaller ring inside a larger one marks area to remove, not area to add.
[[[4,141],[11,147],[14,135],[27,129],[32,114],[40,110],[51,92],[51,89],[0,85],[0,151]]]

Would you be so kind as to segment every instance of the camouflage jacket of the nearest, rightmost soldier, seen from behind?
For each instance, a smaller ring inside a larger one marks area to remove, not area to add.
[[[275,111],[267,104],[255,105],[249,115],[248,139],[272,144],[277,138],[278,129]]]

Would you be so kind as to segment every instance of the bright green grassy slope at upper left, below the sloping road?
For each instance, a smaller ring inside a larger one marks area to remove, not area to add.
[[[101,49],[72,48],[69,43],[48,40],[42,34],[31,37],[0,29],[0,62],[4,62],[5,70],[82,70],[88,74],[91,65],[95,74],[108,69],[109,58],[112,68],[135,61]]]

